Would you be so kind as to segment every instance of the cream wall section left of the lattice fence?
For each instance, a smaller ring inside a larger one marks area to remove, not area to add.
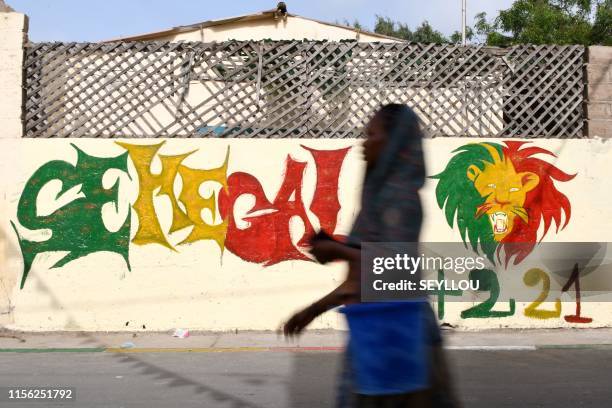
[[[27,17],[0,12],[0,138],[21,137],[23,94],[23,45]]]

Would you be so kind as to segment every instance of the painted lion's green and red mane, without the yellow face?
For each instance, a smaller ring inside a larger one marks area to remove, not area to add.
[[[557,190],[554,182],[570,181],[576,175],[567,174],[555,165],[534,157],[536,154],[552,157],[556,155],[540,147],[524,146],[526,143],[504,141],[503,144],[485,142],[461,146],[453,151],[455,155],[444,171],[430,177],[438,180],[436,200],[445,213],[448,225],[453,228],[456,220],[463,243],[467,246],[469,241],[477,253],[480,253],[480,246],[482,253],[493,263],[495,254],[499,260],[502,248],[506,265],[512,258],[515,265],[520,263],[548,233],[553,221],[556,232],[559,232],[567,226],[571,218],[569,199]],[[500,157],[510,160],[517,172],[533,172],[540,178],[537,187],[529,191],[525,198],[524,208],[527,210],[528,221],[517,217],[514,228],[499,244],[494,239],[487,217],[476,217],[477,208],[484,204],[486,197],[482,197],[473,182],[467,178],[470,165],[484,170],[485,162],[494,163],[489,148],[494,148]],[[542,223],[542,234],[538,238]]]

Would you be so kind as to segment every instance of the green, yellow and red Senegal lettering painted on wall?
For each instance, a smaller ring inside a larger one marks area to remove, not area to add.
[[[92,252],[108,251],[120,254],[128,269],[131,214],[117,231],[109,231],[102,220],[102,206],[112,203],[118,206],[118,186],[110,189],[102,186],[102,178],[110,169],[128,172],[128,157],[138,177],[138,198],[132,207],[138,220],[138,229],[131,242],[135,245],[158,244],[169,250],[177,249],[167,239],[168,234],[191,227],[189,235],[179,243],[191,244],[201,240],[213,240],[221,253],[228,249],[245,261],[273,265],[281,261],[310,261],[303,247],[314,228],[302,199],[302,182],[306,163],[287,156],[284,178],[278,193],[269,200],[261,182],[246,172],[227,174],[230,150],[227,149],[223,163],[211,169],[194,169],[182,164],[191,153],[168,156],[159,154],[164,142],[141,145],[118,142],[126,152],[116,157],[95,157],[72,145],[78,153],[76,165],[53,160],[42,165],[27,181],[18,204],[17,219],[29,230],[49,229],[51,237],[45,241],[30,241],[18,235],[23,255],[24,270],[20,287],[23,288],[37,254],[50,251],[66,251],[57,268]],[[338,200],[338,177],[342,163],[350,147],[335,150],[318,150],[301,146],[308,151],[315,163],[316,186],[310,211],[317,217],[320,227],[334,234],[340,202]],[[161,172],[151,172],[151,163],[158,155]],[[280,170],[280,169],[279,169]],[[178,196],[174,187],[177,177],[182,181]],[[60,180],[62,189],[58,197],[77,185],[81,185],[81,196],[50,215],[37,214],[36,200],[41,189],[52,180]],[[199,189],[203,183],[213,182],[220,187],[218,196],[213,192],[203,197]],[[244,221],[250,225],[238,228],[233,206],[236,200],[250,194],[255,204]],[[172,208],[172,224],[169,231],[161,227],[154,206],[154,198],[165,196]],[[182,206],[181,206],[182,204]],[[220,220],[207,223],[202,211],[221,214]],[[299,217],[305,231],[295,245],[291,238],[290,220]]]

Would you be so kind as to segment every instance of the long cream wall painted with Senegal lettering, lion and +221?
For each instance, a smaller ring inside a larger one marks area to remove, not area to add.
[[[14,214],[3,223],[17,237],[7,265],[21,289],[12,299],[23,310],[20,328],[61,326],[28,311],[44,309],[34,275],[55,285],[87,330],[123,330],[118,314],[144,322],[150,301],[164,310],[156,307],[157,326],[147,327],[230,330],[274,328],[288,310],[278,305],[311,301],[344,273],[311,262],[304,245],[318,228],[338,237],[350,228],[362,171],[357,140],[19,143],[26,147],[16,156],[31,154],[28,166],[9,163],[4,149],[0,168],[17,169],[3,184]],[[582,140],[426,140],[423,241],[463,241],[492,265],[466,272],[480,282],[474,301],[457,301],[467,298],[460,290],[433,293],[438,317],[472,328],[612,325],[612,313],[586,298],[600,272],[585,277],[567,265],[571,275],[561,278],[534,251],[543,238],[609,242],[612,196],[600,175],[610,148]],[[118,257],[97,267],[106,253]],[[94,282],[102,280],[98,293]],[[525,296],[513,299],[510,284]],[[240,312],[245,307],[252,313]],[[338,321],[329,314],[316,327]]]

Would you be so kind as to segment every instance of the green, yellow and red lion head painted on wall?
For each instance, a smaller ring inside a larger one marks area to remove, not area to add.
[[[463,242],[467,244],[467,238],[475,251],[480,245],[491,261],[495,252],[499,259],[504,248],[505,263],[514,257],[518,264],[553,221],[557,232],[569,222],[570,202],[557,190],[555,181],[566,182],[575,175],[534,157],[555,157],[552,152],[505,141],[467,144],[453,153],[446,169],[431,177],[438,179],[438,206],[451,228],[457,220]],[[509,245],[515,243],[521,245]]]

